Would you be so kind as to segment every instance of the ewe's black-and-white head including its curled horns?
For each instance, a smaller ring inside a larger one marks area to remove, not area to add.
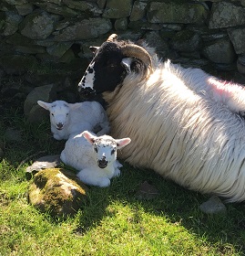
[[[90,47],[94,58],[78,84],[83,97],[94,96],[104,91],[114,91],[128,73],[136,72],[142,78],[151,68],[148,51],[127,41],[117,41],[112,34],[101,47]]]

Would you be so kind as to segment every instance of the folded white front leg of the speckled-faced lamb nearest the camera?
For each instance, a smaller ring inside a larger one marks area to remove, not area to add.
[[[89,168],[81,170],[77,177],[87,185],[98,187],[108,187],[110,185],[110,180],[107,177],[97,176],[97,173]]]

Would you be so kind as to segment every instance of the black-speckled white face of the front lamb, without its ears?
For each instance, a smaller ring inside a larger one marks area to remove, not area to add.
[[[117,159],[117,143],[108,139],[97,139],[93,144],[97,158],[97,165],[101,169]]]

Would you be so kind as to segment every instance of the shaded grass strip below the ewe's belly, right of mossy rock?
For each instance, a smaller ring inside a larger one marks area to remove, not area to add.
[[[138,200],[135,194],[146,180],[158,188],[159,195],[152,200]],[[90,187],[88,194],[89,202],[82,210],[80,228],[76,230],[81,234],[96,227],[101,219],[110,217],[107,206],[119,201],[136,211],[140,205],[152,215],[165,216],[169,222],[180,223],[199,238],[207,237],[212,244],[222,241],[222,244],[233,244],[239,251],[245,250],[244,203],[226,204],[226,215],[204,214],[199,205],[209,199],[208,195],[189,191],[150,170],[138,170],[126,163],[121,176],[113,179],[110,187]]]

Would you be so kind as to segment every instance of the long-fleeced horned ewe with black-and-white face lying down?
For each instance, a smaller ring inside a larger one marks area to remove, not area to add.
[[[91,49],[78,91],[102,93],[112,136],[133,141],[124,159],[189,189],[245,200],[244,88],[162,62],[115,34]]]

